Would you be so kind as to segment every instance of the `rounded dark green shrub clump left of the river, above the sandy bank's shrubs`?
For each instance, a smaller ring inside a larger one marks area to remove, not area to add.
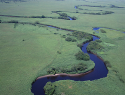
[[[82,51],[79,51],[78,53],[76,53],[75,56],[77,60],[85,60],[85,61],[90,60],[90,56],[87,53],[84,53]]]

